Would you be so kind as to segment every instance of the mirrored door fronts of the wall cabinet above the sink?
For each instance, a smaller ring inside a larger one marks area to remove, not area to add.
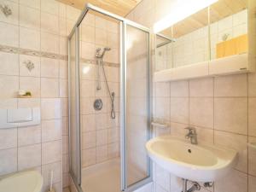
[[[247,53],[247,0],[218,0],[156,35],[155,71]]]

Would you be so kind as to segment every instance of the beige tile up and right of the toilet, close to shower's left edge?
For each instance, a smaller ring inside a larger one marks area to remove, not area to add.
[[[45,165],[60,161],[62,158],[61,146],[61,140],[42,143],[42,164]]]

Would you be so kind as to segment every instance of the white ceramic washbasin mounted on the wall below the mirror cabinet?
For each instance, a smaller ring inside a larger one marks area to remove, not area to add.
[[[213,182],[236,166],[234,150],[215,145],[193,145],[177,137],[155,137],[146,143],[156,164],[176,175],[197,182]]]

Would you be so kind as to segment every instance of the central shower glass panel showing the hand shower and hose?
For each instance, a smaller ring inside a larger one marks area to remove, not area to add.
[[[89,10],[80,29],[81,187],[119,192],[119,20]]]

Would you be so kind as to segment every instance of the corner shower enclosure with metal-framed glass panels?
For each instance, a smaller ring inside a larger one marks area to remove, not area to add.
[[[87,4],[68,37],[69,172],[83,192],[151,182],[149,29]]]

